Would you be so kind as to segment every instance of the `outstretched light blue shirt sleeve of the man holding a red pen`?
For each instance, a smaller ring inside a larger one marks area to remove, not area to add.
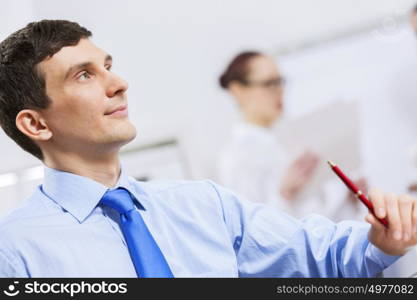
[[[378,244],[385,253],[372,245],[368,240],[370,226],[364,222],[335,224],[317,215],[297,220],[214,187],[240,276],[372,277],[401,254],[386,251],[392,240]]]

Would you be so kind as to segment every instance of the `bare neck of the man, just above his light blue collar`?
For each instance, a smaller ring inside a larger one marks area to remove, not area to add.
[[[107,187],[115,186],[120,176],[118,153],[101,157],[73,153],[45,155],[44,164],[53,169],[93,179]]]

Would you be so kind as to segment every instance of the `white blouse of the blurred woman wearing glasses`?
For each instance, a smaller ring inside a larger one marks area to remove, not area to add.
[[[291,212],[279,196],[279,183],[287,159],[270,129],[239,122],[220,154],[218,179],[221,184],[253,202]]]

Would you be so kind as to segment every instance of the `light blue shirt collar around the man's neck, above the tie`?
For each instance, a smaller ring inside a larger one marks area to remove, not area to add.
[[[80,223],[91,214],[107,190],[127,189],[137,200],[140,209],[146,210],[147,193],[136,180],[129,178],[121,168],[119,180],[112,188],[87,177],[44,166],[42,190],[50,199],[68,211]]]

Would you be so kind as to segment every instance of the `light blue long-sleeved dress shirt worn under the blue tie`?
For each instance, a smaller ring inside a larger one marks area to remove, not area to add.
[[[369,225],[303,220],[238,199],[211,181],[123,187],[175,277],[370,277],[398,257],[367,239]],[[108,190],[45,167],[43,185],[0,222],[1,277],[136,277],[118,214],[98,205]]]

